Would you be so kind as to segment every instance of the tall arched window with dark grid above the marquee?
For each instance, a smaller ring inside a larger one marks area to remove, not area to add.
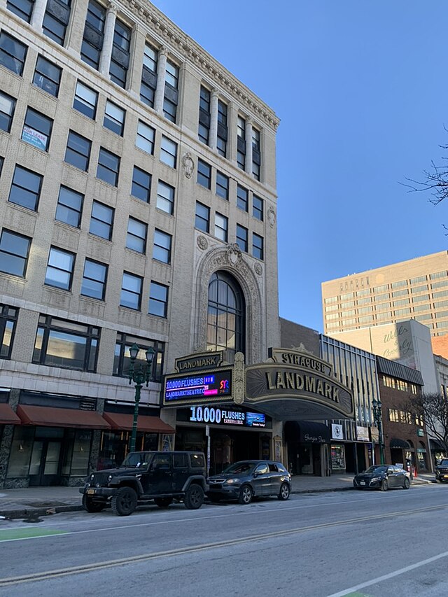
[[[226,351],[233,363],[235,353],[245,352],[246,304],[237,281],[225,272],[216,272],[209,283],[207,350]]]

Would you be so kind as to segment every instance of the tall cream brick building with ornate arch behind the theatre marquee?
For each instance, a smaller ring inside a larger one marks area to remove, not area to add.
[[[0,486],[78,484],[129,445],[133,344],[141,449],[173,445],[176,358],[278,345],[279,120],[147,1],[0,27]]]

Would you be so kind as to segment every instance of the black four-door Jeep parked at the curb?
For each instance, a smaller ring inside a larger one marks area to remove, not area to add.
[[[128,516],[150,500],[161,508],[183,501],[196,510],[204,503],[206,478],[202,452],[130,452],[118,468],[92,472],[79,491],[87,512],[101,512],[111,503],[115,514]]]

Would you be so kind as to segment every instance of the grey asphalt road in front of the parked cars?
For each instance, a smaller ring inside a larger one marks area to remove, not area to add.
[[[0,596],[440,597],[448,486],[0,521]]]

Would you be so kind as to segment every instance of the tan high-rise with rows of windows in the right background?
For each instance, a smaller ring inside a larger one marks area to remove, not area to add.
[[[442,337],[448,332],[448,252],[323,282],[322,310],[329,335],[415,319],[433,338]]]

